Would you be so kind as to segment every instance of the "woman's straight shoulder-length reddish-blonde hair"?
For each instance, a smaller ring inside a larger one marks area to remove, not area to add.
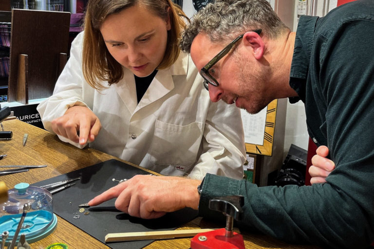
[[[160,18],[167,19],[170,16],[171,29],[168,31],[167,47],[157,69],[166,69],[177,60],[180,53],[179,36],[188,19],[179,5],[171,0],[90,0],[84,20],[82,68],[84,78],[93,88],[105,89],[107,86],[103,86],[102,81],[108,81],[110,86],[123,77],[122,65],[112,57],[105,45],[100,33],[101,25],[109,15],[137,4],[146,6]]]

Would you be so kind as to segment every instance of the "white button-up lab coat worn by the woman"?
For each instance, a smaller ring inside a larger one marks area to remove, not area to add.
[[[90,147],[163,175],[202,179],[206,173],[243,178],[243,125],[239,108],[210,102],[208,91],[188,54],[167,70],[159,70],[137,103],[134,75],[97,91],[82,73],[82,38],[72,43],[71,56],[54,93],[37,107],[44,127],[69,107],[89,107],[102,128]],[[76,144],[59,136],[64,142]]]

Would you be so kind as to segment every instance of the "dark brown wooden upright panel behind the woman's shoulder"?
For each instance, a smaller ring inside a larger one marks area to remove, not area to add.
[[[8,101],[17,101],[19,54],[28,55],[28,98],[52,95],[59,54],[68,52],[69,12],[12,10]]]

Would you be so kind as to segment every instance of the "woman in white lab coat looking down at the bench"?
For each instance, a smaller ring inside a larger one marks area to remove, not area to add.
[[[184,17],[170,0],[90,0],[54,94],[37,107],[44,127],[163,175],[243,178],[240,111],[202,90],[178,47]]]

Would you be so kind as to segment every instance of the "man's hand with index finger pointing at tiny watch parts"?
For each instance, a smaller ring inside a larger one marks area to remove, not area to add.
[[[136,175],[94,197],[88,203],[96,206],[117,198],[115,208],[143,219],[153,219],[185,207],[198,208],[197,186],[201,180],[182,177]]]

